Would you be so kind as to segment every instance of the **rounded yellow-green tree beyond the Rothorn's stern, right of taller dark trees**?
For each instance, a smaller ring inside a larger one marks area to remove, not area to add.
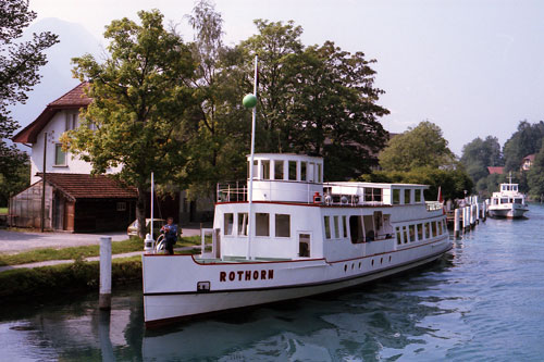
[[[429,121],[393,137],[380,153],[380,165],[385,171],[410,171],[417,167],[452,167],[454,153],[442,136],[442,129]]]

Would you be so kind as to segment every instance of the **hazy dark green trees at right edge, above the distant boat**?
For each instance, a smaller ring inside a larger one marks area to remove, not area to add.
[[[518,130],[506,141],[504,147],[505,171],[518,171],[521,160],[528,155],[537,153],[544,138],[544,122],[530,124],[521,121]]]

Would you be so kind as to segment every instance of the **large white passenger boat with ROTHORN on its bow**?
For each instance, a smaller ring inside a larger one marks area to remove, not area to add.
[[[323,183],[323,159],[310,155],[249,164],[249,192],[218,186],[201,254],[143,255],[146,326],[353,287],[452,249],[425,185]]]

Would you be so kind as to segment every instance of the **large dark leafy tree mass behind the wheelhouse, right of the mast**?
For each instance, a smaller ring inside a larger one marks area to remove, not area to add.
[[[332,41],[305,47],[294,22],[255,23],[259,33],[238,49],[247,74],[254,54],[260,59],[258,151],[323,155],[325,179],[370,171],[387,137],[378,122],[388,111],[376,104],[383,90],[373,85],[375,61]]]

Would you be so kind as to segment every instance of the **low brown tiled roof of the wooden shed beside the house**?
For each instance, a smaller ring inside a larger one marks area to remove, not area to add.
[[[41,173],[37,174],[41,177]],[[104,175],[48,173],[46,182],[59,189],[72,201],[77,199],[135,199],[134,187]]]

